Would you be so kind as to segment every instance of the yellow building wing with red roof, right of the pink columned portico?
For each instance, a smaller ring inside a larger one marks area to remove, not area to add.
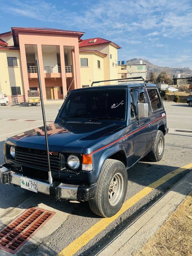
[[[93,81],[118,79],[117,49],[120,48],[117,44],[100,37],[82,40],[79,43],[82,87],[90,85]],[[117,81],[102,84],[117,84]]]

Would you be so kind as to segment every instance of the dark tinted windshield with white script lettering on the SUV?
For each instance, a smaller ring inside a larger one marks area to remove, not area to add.
[[[59,118],[102,118],[124,121],[126,89],[96,89],[71,92]]]

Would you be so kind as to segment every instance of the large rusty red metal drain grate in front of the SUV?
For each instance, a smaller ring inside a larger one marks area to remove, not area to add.
[[[26,210],[0,230],[0,249],[17,252],[54,214],[37,207]]]

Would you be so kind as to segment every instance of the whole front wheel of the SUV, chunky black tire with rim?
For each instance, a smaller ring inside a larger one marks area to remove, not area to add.
[[[89,200],[92,212],[101,217],[115,215],[121,209],[126,191],[127,171],[124,164],[118,160],[107,159],[97,181],[95,197]]]

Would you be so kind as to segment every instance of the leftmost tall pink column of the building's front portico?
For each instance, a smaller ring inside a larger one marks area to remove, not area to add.
[[[27,69],[27,59],[25,53],[25,44],[20,44],[20,55],[21,55],[21,68],[23,75],[23,87],[25,94],[25,101],[28,101],[28,90],[29,90],[29,80],[28,80],[28,69]]]

